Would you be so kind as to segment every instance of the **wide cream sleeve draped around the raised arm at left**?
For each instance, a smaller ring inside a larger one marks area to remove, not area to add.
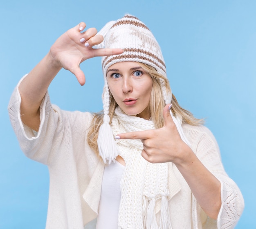
[[[38,132],[22,123],[20,118],[21,97],[18,87],[26,76],[27,75],[20,80],[11,95],[8,105],[9,118],[18,138],[20,148],[25,155],[32,160],[48,165],[58,121],[58,114],[53,111],[47,92],[40,105],[40,127]]]

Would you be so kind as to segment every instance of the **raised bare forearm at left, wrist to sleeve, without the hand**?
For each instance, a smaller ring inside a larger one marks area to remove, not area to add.
[[[49,84],[60,69],[61,67],[57,66],[50,53],[48,53],[22,80],[18,88],[21,96],[21,120],[36,131],[38,131],[40,125],[40,104]]]

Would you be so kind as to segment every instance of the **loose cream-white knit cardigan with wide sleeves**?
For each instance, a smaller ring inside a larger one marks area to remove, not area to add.
[[[63,111],[51,104],[47,93],[40,106],[40,128],[35,134],[22,124],[20,102],[17,86],[8,107],[11,124],[25,155],[49,168],[46,229],[83,229],[97,218],[104,171],[104,164],[87,143],[92,114]],[[178,169],[170,162],[168,186],[172,228],[234,228],[243,212],[243,196],[225,173],[214,136],[204,126],[184,124],[182,127],[191,149],[220,180],[222,206],[217,220],[207,217]],[[155,211],[159,209],[158,202]]]

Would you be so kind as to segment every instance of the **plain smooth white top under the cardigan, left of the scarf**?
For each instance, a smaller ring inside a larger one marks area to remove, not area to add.
[[[104,169],[99,216],[96,229],[118,229],[118,210],[121,199],[120,182],[125,166],[119,162],[111,163]]]

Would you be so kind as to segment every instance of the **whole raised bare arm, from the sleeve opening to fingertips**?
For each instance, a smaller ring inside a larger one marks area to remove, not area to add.
[[[95,28],[85,30],[81,22],[63,33],[52,45],[47,55],[22,80],[19,86],[21,119],[28,127],[38,131],[40,125],[40,104],[56,74],[61,68],[71,71],[81,85],[85,75],[79,64],[94,56],[108,56],[122,53],[122,49],[93,49],[103,41]],[[84,31],[84,32],[82,32]],[[86,44],[86,45],[85,45]]]

